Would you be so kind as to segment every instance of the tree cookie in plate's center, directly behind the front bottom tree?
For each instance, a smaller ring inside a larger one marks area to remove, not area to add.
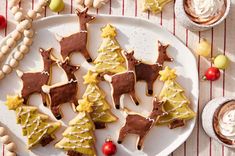
[[[77,110],[89,112],[96,128],[100,129],[105,128],[105,123],[116,121],[117,117],[110,111],[110,105],[105,100],[105,94],[97,84],[99,82],[97,76],[98,73],[88,71],[83,77],[87,88],[82,99],[78,101]],[[91,107],[89,108],[88,106]]]

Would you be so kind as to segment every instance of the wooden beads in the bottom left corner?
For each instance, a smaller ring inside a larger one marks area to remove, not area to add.
[[[0,142],[3,143],[3,150],[6,156],[16,156],[15,143],[11,141],[10,136],[7,135],[6,129],[0,124]]]

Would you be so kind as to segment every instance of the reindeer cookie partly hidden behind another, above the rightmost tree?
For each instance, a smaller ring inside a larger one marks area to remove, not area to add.
[[[135,66],[136,72],[136,80],[137,81],[146,81],[148,87],[148,94],[153,94],[153,83],[159,76],[159,71],[163,69],[163,63],[165,61],[172,62],[173,59],[167,55],[166,49],[169,45],[162,45],[160,41],[158,41],[158,59],[155,64],[145,64],[139,63]]]

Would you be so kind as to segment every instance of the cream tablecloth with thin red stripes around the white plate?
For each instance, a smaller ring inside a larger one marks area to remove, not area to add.
[[[13,20],[13,16],[8,9],[8,1],[0,1],[0,14],[6,16],[8,20]],[[25,9],[31,9],[38,0],[22,0],[21,6]],[[76,9],[75,0],[64,0],[66,3],[65,10],[60,14],[70,14]],[[90,12],[97,14],[112,14],[122,16],[141,17],[158,23],[177,36],[186,46],[193,49],[200,38],[208,39],[212,44],[211,56],[218,53],[226,54],[232,61],[230,67],[222,73],[221,78],[215,82],[200,81],[200,95],[198,103],[198,120],[194,131],[188,140],[182,144],[171,155],[174,156],[234,156],[235,151],[226,148],[218,142],[209,138],[201,126],[201,111],[210,99],[219,96],[233,96],[235,94],[235,0],[232,0],[230,15],[219,26],[206,32],[191,32],[183,28],[175,19],[174,2],[168,4],[164,11],[158,15],[143,13],[141,11],[142,0],[110,0],[106,6],[99,10],[91,9]],[[48,8],[45,10],[45,16],[51,16],[52,13]],[[5,31],[0,31],[0,39],[10,33],[14,25],[8,24]],[[210,62],[202,57],[198,57],[199,76],[202,77],[205,70],[211,65]]]

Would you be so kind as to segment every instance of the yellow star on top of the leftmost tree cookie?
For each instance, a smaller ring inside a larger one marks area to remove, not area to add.
[[[7,96],[6,105],[9,110],[16,110],[23,104],[24,100],[19,96]]]

